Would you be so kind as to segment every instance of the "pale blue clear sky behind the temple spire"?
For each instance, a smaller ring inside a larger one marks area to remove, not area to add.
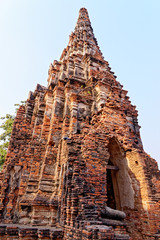
[[[139,111],[144,150],[160,165],[160,1],[0,0],[0,116],[14,113],[60,55],[86,7],[100,49]]]

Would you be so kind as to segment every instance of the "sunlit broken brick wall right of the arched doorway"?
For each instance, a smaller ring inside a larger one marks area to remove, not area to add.
[[[136,178],[132,184],[136,189],[139,189],[139,194],[136,195],[136,206],[138,212],[143,216],[141,219],[146,227],[146,236],[150,236],[151,233],[154,235],[159,229],[160,223],[160,172],[157,163],[148,154],[136,149],[127,153],[127,159],[129,168]],[[135,218],[135,214],[136,212],[132,212],[131,216]],[[141,231],[143,226],[139,224],[139,220],[135,220],[135,223]],[[130,228],[132,224],[129,224]]]

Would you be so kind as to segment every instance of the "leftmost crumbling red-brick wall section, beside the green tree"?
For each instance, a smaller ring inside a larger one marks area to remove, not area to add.
[[[16,202],[26,186],[26,176],[29,175],[28,162],[31,153],[28,146],[31,134],[32,129],[25,121],[25,109],[21,106],[14,121],[6,162],[2,170],[1,218],[7,223],[17,220],[14,213]]]

